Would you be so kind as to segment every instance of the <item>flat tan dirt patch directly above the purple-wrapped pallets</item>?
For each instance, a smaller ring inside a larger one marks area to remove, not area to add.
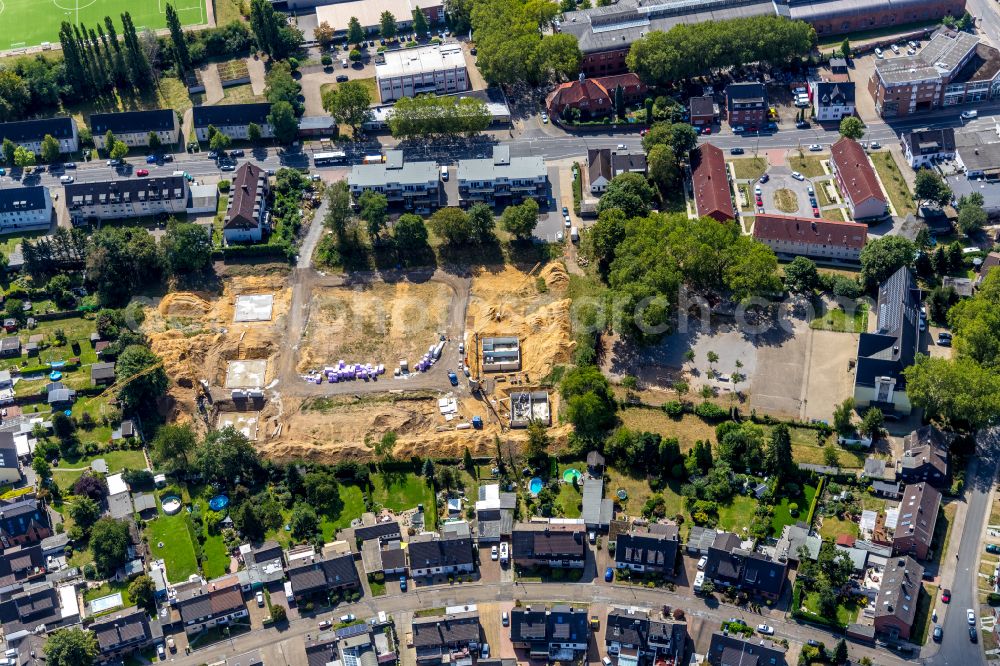
[[[395,367],[419,360],[443,331],[452,300],[440,282],[376,283],[316,290],[296,370],[348,363]]]

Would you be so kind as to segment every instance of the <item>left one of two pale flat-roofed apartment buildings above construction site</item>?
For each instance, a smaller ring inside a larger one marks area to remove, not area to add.
[[[403,151],[386,152],[381,164],[355,164],[347,176],[357,201],[365,191],[386,196],[391,206],[429,213],[441,205],[441,171],[437,162],[407,162]]]

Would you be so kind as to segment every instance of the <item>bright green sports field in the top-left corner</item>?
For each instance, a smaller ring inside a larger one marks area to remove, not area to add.
[[[173,0],[184,25],[206,22],[206,0]],[[128,11],[136,30],[166,27],[167,0],[0,0],[0,51],[59,43],[63,21],[93,28],[110,16],[121,35],[121,15]]]

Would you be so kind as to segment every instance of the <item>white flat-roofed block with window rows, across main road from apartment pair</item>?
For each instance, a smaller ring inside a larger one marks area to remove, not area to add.
[[[469,89],[469,72],[461,44],[402,49],[384,55],[385,62],[375,65],[383,102],[422,93],[442,95]]]

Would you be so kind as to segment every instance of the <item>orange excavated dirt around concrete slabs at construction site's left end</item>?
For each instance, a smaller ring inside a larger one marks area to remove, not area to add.
[[[234,305],[242,294],[274,294],[271,321],[235,323]],[[147,307],[143,332],[173,380],[168,417],[178,422],[196,420],[198,381],[224,385],[231,360],[266,359],[265,381],[270,382],[290,301],[286,278],[241,276],[225,280],[222,294],[172,292]]]

